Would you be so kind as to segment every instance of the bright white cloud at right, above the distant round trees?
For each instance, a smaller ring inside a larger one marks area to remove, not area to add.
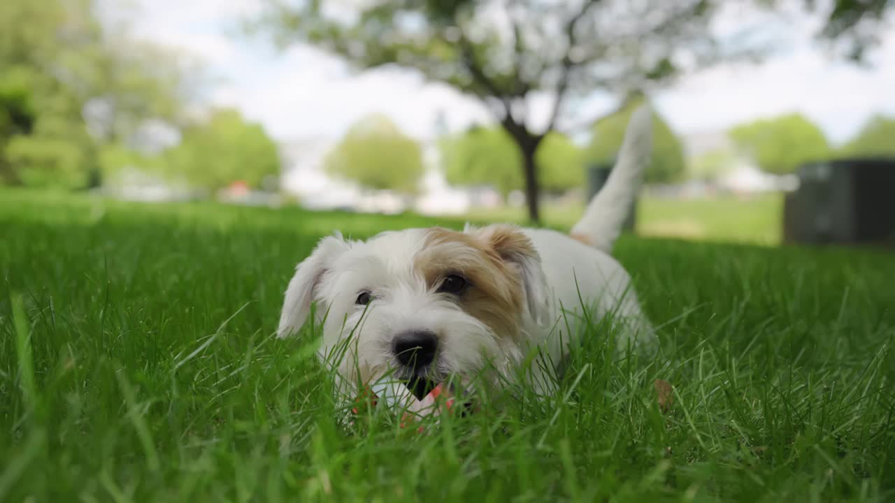
[[[682,132],[728,128],[763,116],[800,112],[832,141],[844,141],[879,112],[895,114],[895,37],[872,69],[824,57],[814,47],[761,65],[724,65],[661,93],[657,106]]]

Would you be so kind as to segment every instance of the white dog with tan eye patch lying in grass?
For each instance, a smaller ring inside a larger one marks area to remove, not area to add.
[[[278,336],[302,328],[316,303],[320,356],[332,362],[341,351],[332,364],[346,386],[387,374],[432,384],[486,366],[513,377],[525,365],[545,393],[545,367],[526,356],[540,352],[561,368],[584,310],[591,320],[611,313],[622,321],[618,345],[652,345],[630,277],[609,255],[640,189],[651,131],[642,107],[609,180],[570,235],[492,225],[406,229],[365,242],[323,238],[289,282]]]

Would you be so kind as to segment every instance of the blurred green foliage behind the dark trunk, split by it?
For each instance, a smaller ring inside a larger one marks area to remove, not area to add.
[[[449,183],[490,185],[505,197],[524,187],[522,154],[501,128],[475,127],[439,146]],[[565,192],[584,183],[582,151],[563,134],[544,137],[534,159],[542,189]]]

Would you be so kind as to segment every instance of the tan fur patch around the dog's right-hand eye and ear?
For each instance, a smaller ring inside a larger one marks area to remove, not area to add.
[[[490,226],[471,234],[432,227],[413,267],[430,289],[450,274],[462,274],[470,287],[460,307],[499,337],[518,337],[524,303],[521,271],[507,261],[513,254],[536,255],[529,239],[509,226]]]

